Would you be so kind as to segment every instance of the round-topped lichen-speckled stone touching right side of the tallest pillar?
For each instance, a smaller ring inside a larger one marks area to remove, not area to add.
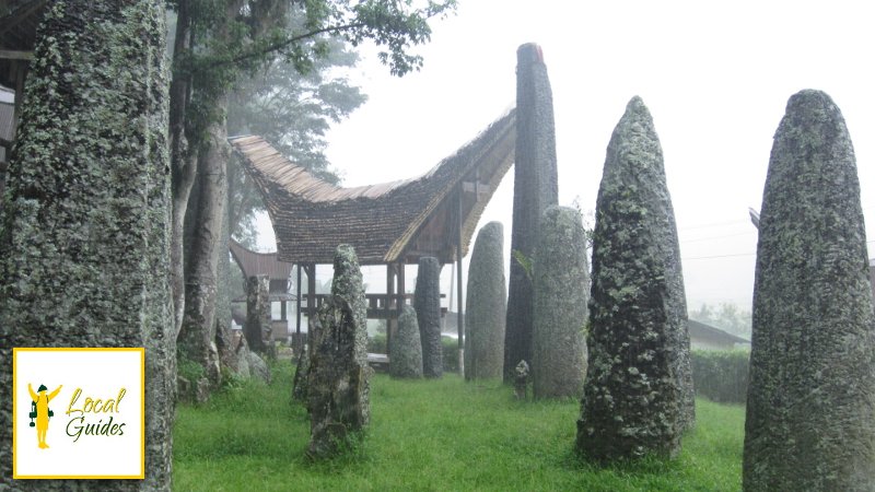
[[[535,283],[532,391],[535,398],[583,396],[590,266],[579,211],[550,207],[540,223]]]

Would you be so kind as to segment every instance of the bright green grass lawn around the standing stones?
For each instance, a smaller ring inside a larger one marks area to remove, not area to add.
[[[679,459],[602,468],[572,446],[576,401],[513,399],[498,383],[372,382],[372,422],[350,453],[304,456],[310,421],[290,403],[293,367],[200,407],[182,405],[174,427],[174,490],[740,490],[744,408],[700,399]]]

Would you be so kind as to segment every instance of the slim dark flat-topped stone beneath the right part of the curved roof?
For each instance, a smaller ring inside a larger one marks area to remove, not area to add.
[[[413,307],[422,341],[422,374],[441,377],[444,374],[444,349],[441,342],[441,263],[438,258],[419,259]]]

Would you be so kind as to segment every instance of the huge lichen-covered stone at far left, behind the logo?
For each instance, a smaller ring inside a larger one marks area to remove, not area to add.
[[[0,483],[13,483],[13,347],[145,347],[145,480],[18,490],[170,490],[164,52],[154,0],[58,0],[39,27],[0,231]]]

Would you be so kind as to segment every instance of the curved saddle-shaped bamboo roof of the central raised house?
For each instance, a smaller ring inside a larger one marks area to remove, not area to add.
[[[483,208],[513,164],[516,112],[422,176],[354,188],[314,177],[260,137],[230,141],[265,198],[281,261],[330,263],[337,245],[350,244],[362,263],[421,256],[450,262],[456,257],[459,198],[464,256]]]

